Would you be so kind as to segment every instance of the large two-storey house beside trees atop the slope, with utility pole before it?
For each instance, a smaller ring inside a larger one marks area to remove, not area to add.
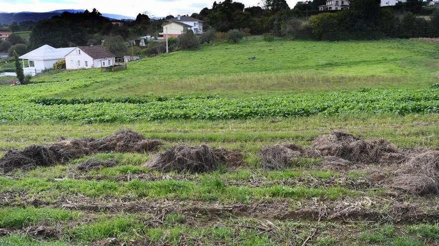
[[[183,31],[191,30],[195,34],[203,33],[203,21],[189,16],[178,15],[175,18],[167,19],[163,24],[163,32],[159,33],[160,40],[166,37],[178,37]]]

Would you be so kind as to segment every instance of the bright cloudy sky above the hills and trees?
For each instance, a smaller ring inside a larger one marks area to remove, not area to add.
[[[152,16],[191,14],[211,7],[214,0],[0,0],[0,12],[45,12],[55,9],[93,9],[102,13],[136,16],[147,11]],[[218,0],[219,2],[220,0]],[[260,0],[238,0],[245,6],[255,6]],[[287,0],[290,7],[297,0]]]

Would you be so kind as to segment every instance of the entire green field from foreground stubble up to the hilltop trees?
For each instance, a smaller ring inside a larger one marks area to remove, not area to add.
[[[438,58],[252,37],[0,84],[0,245],[438,245]]]

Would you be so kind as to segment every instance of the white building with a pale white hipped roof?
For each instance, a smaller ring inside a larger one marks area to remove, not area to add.
[[[25,75],[35,76],[45,69],[53,68],[58,60],[64,57],[75,48],[53,48],[49,45],[43,45],[38,49],[32,50],[19,58],[23,62],[23,72]],[[24,60],[28,60],[28,66],[25,67]]]

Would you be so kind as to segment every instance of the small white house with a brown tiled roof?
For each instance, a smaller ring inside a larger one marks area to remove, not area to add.
[[[101,45],[79,46],[65,56],[68,70],[109,67],[115,62],[116,56]]]

